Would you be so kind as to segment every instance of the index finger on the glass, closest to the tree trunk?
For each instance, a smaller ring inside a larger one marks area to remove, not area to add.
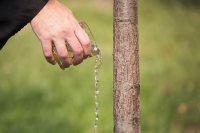
[[[75,31],[75,35],[78,38],[79,42],[81,43],[81,46],[83,48],[84,57],[88,57],[91,54],[92,48],[91,48],[90,39],[89,39],[87,33],[79,25]]]

